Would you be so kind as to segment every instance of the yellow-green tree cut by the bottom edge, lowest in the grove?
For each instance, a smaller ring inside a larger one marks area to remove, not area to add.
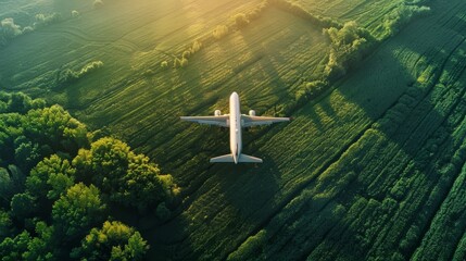
[[[105,221],[101,229],[92,228],[72,258],[86,260],[141,260],[149,246],[139,232],[113,221]]]

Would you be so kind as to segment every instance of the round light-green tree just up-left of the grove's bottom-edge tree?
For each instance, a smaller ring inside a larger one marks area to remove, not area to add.
[[[83,237],[105,219],[105,210],[96,186],[74,185],[52,207],[52,220],[59,238],[73,241]]]

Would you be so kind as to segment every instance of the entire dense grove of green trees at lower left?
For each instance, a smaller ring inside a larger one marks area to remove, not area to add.
[[[127,144],[92,139],[62,107],[0,91],[1,260],[143,258],[139,232],[109,213],[150,208],[166,221],[178,188]]]

